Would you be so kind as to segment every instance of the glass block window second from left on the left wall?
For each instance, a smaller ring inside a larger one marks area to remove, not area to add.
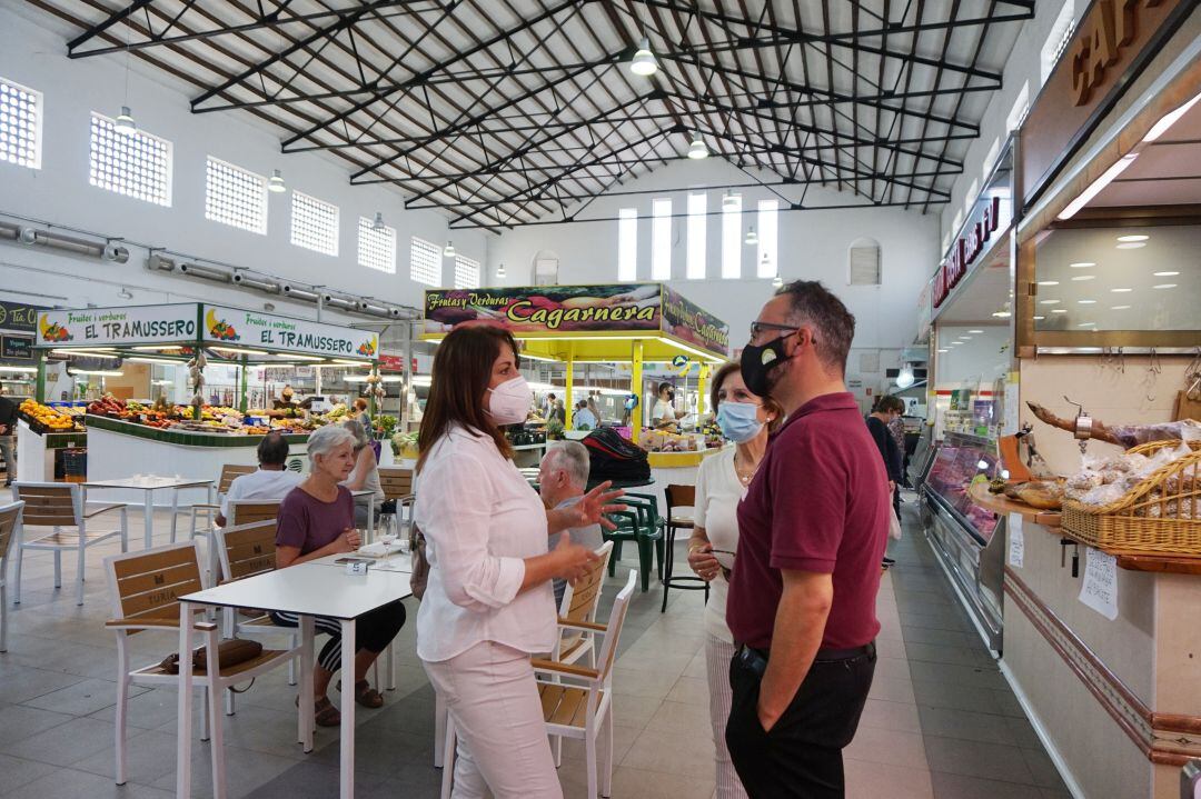
[[[88,180],[97,188],[171,205],[171,142],[143,131],[118,133],[107,116],[91,115]]]

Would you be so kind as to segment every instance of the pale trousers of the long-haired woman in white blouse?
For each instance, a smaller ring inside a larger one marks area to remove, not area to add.
[[[483,642],[423,661],[459,735],[454,799],[562,799],[528,653]]]

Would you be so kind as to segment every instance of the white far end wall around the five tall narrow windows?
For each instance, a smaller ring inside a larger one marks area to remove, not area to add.
[[[769,173],[760,173],[761,180],[778,180]],[[722,186],[725,184],[753,182],[752,179],[729,163],[709,158],[697,163],[671,162],[656,172],[627,182],[617,191],[641,191],[658,187]],[[789,198],[799,198],[799,186],[779,186]],[[697,190],[699,191],[699,190]],[[742,232],[755,221],[754,208],[760,199],[775,194],[763,187],[742,188]],[[721,190],[709,190],[709,210],[721,211]],[[688,192],[670,194],[649,193],[628,197],[600,197],[593,202],[584,216],[616,217],[620,208],[637,206],[638,221],[638,278],[651,276],[651,202],[670,197],[673,214],[687,211]],[[777,198],[778,199],[778,198]],[[806,205],[848,204],[856,202],[848,193],[809,190]],[[782,202],[782,205],[787,203]],[[748,210],[749,209],[749,210]],[[785,281],[819,280],[830,287],[847,304],[856,319],[855,348],[900,348],[909,344],[916,335],[918,294],[927,274],[937,263],[938,220],[934,215],[922,216],[897,209],[855,210],[806,210],[779,212],[779,271]],[[730,325],[730,343],[741,347],[747,338],[747,329],[763,304],[770,299],[771,278],[758,278],[753,246],[743,245],[742,275],[737,281],[723,280],[721,275],[722,218],[707,217],[706,226],[706,275],[707,280],[686,280],[687,220],[674,218],[671,232],[671,284],[686,298],[716,314]],[[862,236],[880,244],[883,286],[848,286],[848,247]],[[572,222],[563,224],[527,226],[507,230],[489,246],[489,284],[531,284],[533,259],[540,251],[552,251],[558,256],[558,282],[610,283],[617,281],[617,222]],[[496,268],[504,264],[506,277],[496,277]],[[749,277],[748,277],[749,276]],[[882,355],[882,370],[896,366]],[[852,355],[853,366],[858,361]],[[871,385],[871,384],[870,384]]]

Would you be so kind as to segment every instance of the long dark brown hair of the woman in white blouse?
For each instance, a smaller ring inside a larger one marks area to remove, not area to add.
[[[438,344],[434,355],[434,373],[425,415],[417,433],[417,470],[420,471],[434,445],[454,425],[491,435],[496,449],[507,458],[513,457],[504,433],[484,410],[484,392],[492,379],[492,367],[502,348],[510,347],[516,358],[518,342],[513,334],[490,325],[455,328]]]

